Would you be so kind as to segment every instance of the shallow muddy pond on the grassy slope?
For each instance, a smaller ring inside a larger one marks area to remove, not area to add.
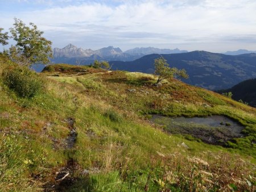
[[[172,134],[192,135],[205,143],[224,145],[226,141],[243,137],[243,126],[226,116],[213,115],[207,117],[171,118],[162,115],[152,115],[152,121],[164,127]]]

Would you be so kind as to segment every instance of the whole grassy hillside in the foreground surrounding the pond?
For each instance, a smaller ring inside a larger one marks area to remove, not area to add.
[[[9,61],[0,62],[2,73]],[[154,87],[155,77],[143,73],[53,65],[39,76],[44,91],[31,99],[0,78],[3,191],[255,189],[255,108],[177,80]],[[226,115],[246,126],[247,136],[228,148],[208,145],[169,135],[150,114]],[[64,169],[69,175],[56,181]]]

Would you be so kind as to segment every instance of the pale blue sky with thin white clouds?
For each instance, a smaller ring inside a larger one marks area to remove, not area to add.
[[[0,27],[14,18],[59,48],[256,50],[255,0],[0,0]]]

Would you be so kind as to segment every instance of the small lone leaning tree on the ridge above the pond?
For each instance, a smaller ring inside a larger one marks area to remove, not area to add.
[[[167,60],[165,60],[163,57],[160,57],[158,59],[155,59],[155,75],[158,76],[159,82],[163,81],[166,78],[173,78],[173,77],[180,77],[180,78],[188,78],[188,74],[185,69],[177,69],[177,68],[170,68],[169,64],[167,63]]]

